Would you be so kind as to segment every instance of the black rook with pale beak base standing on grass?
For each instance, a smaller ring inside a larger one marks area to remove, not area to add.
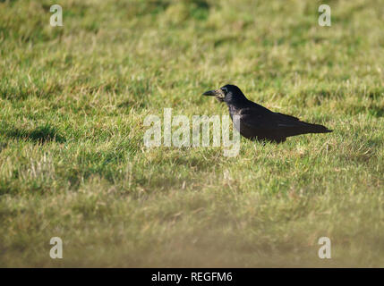
[[[280,143],[290,136],[332,132],[325,126],[301,122],[294,116],[274,113],[255,104],[234,85],[227,84],[222,88],[204,92],[203,95],[214,96],[218,101],[225,102],[232,120],[234,115],[239,115],[240,128],[236,125],[235,128],[247,139]]]

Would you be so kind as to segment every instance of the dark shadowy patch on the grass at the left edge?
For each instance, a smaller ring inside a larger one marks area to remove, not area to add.
[[[13,130],[6,130],[4,135],[10,139],[24,139],[39,143],[47,143],[49,141],[59,143],[65,142],[65,138],[60,135],[55,128],[49,125],[38,126],[34,130],[20,130],[14,128]]]

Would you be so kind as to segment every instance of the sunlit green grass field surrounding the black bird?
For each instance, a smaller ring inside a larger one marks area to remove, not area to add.
[[[0,266],[384,266],[384,3],[328,3],[0,1]],[[144,146],[226,83],[334,132]]]

